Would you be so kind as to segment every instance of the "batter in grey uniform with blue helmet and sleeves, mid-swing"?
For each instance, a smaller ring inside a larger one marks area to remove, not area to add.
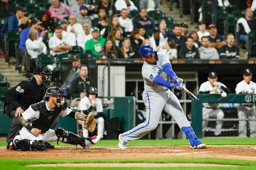
[[[156,53],[156,50],[148,44],[140,47],[140,55],[144,59],[141,70],[144,80],[142,97],[147,110],[147,120],[120,134],[118,147],[126,149],[127,142],[139,139],[156,129],[162,110],[164,110],[172,116],[180,129],[186,134],[191,145],[190,148],[204,148],[206,145],[196,137],[178,98],[169,90],[169,88],[175,88],[181,91],[184,84],[183,79],[177,77],[172,70],[167,55],[163,52]],[[170,78],[174,79],[175,83],[170,82]]]

